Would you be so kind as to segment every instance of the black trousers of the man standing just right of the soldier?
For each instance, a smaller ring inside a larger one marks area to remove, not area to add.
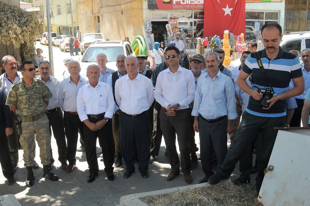
[[[67,162],[67,143],[66,143],[66,136],[64,133],[64,119],[63,119],[63,113],[58,107],[57,111],[52,112],[45,112],[49,123],[49,129],[50,133],[54,134],[54,138],[56,140],[57,149],[58,149],[58,160],[60,163],[66,163]],[[55,159],[53,158],[52,154],[52,148],[51,148],[51,163],[55,162]]]

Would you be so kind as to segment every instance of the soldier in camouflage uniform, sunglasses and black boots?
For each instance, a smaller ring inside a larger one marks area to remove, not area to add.
[[[52,94],[44,81],[34,79],[35,68],[32,61],[23,61],[20,64],[20,70],[23,78],[11,86],[6,105],[11,106],[11,110],[18,116],[18,119],[21,119],[20,145],[24,150],[23,159],[28,171],[26,186],[32,186],[34,183],[32,151],[35,139],[40,148],[43,177],[57,181],[58,177],[49,169],[51,134],[48,127],[49,121],[45,114]]]

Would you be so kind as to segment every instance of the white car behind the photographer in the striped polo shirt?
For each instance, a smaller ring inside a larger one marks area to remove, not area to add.
[[[293,32],[283,35],[280,46],[285,51],[297,50],[299,53],[305,48],[310,48],[310,32]],[[264,45],[260,45],[257,51],[263,50]],[[300,64],[303,65],[301,56],[299,56]],[[240,65],[240,59],[230,62],[229,69]]]

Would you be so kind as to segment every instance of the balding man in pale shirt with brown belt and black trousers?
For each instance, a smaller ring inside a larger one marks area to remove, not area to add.
[[[84,141],[83,123],[79,119],[77,110],[78,90],[88,83],[88,79],[80,75],[81,66],[77,61],[68,65],[70,77],[59,85],[58,103],[64,109],[64,129],[67,138],[67,159],[69,165],[66,172],[72,172],[76,163],[76,148],[78,144],[78,129]]]

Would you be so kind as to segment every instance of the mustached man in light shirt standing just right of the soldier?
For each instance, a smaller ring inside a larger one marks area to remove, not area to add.
[[[60,105],[58,103],[57,95],[58,95],[58,89],[60,85],[60,81],[51,76],[51,63],[49,61],[41,61],[38,64],[40,76],[37,77],[37,79],[43,80],[46,84],[46,86],[50,89],[53,97],[48,100],[47,105],[47,111],[46,116],[48,118],[49,123],[49,129],[50,133],[53,134],[54,138],[56,140],[57,148],[58,148],[58,160],[61,163],[61,169],[67,169],[67,143],[66,143],[66,137],[64,133],[64,119],[63,119],[63,113],[60,109]],[[52,169],[52,165],[55,162],[55,159],[53,158],[52,154],[52,148],[50,150],[51,152],[51,164],[50,164],[50,170]]]

